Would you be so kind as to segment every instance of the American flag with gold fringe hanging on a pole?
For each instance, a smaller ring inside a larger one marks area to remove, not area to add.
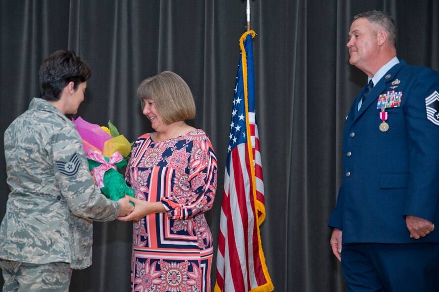
[[[259,225],[265,219],[264,182],[254,111],[252,38],[240,39],[230,124],[215,292],[269,292],[274,287],[265,264]]]

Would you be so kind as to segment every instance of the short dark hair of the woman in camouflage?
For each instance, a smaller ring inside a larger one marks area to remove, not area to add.
[[[40,67],[40,97],[56,101],[62,89],[73,82],[76,90],[79,83],[92,76],[92,69],[74,51],[58,50],[43,61]]]

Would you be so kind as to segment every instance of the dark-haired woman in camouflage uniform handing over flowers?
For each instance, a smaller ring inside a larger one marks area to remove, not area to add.
[[[81,137],[65,114],[76,114],[91,69],[59,50],[40,67],[41,98],[4,133],[10,193],[0,228],[4,291],[68,291],[72,269],[92,261],[92,220],[129,214],[93,183]]]

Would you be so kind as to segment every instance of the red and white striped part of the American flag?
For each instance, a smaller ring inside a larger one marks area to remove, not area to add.
[[[251,142],[254,145],[252,153],[255,177],[251,177],[248,145],[239,144],[231,151],[230,175],[226,170],[224,178],[216,292],[272,290],[271,283],[267,283],[264,275],[265,259],[258,236],[259,225],[265,218],[265,209],[259,138],[254,113],[250,114],[249,122]],[[259,204],[255,204],[252,179],[255,180]],[[258,220],[260,216],[263,216],[262,220]]]

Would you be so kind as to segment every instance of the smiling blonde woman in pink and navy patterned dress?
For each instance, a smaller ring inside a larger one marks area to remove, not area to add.
[[[212,235],[204,217],[217,185],[217,162],[207,134],[185,123],[195,117],[186,82],[173,72],[137,89],[152,133],[134,144],[126,181],[136,191],[133,292],[209,292]]]

